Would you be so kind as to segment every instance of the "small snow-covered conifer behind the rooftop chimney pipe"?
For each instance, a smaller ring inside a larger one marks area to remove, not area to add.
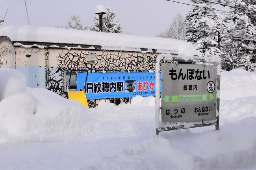
[[[119,20],[115,20],[116,12],[107,8],[107,13],[103,14],[102,24],[103,24],[103,32],[105,33],[121,33],[122,27]],[[99,31],[100,22],[99,16],[93,17],[94,24],[89,26],[91,31]]]

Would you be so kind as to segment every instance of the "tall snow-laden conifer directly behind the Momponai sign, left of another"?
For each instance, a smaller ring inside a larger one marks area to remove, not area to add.
[[[223,19],[217,14],[215,4],[203,0],[191,0],[193,7],[185,17],[186,41],[194,43],[203,56],[220,54],[220,35]]]

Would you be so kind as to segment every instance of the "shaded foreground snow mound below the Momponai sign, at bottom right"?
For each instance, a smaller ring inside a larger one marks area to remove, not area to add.
[[[179,130],[103,157],[97,169],[254,169],[256,117],[222,130]],[[93,167],[86,167],[93,168]]]

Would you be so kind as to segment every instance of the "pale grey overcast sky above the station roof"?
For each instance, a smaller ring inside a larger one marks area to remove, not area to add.
[[[190,0],[176,0],[187,2]],[[191,6],[166,0],[26,0],[30,25],[54,27],[65,25],[72,14],[80,15],[82,24],[93,24],[96,5],[117,12],[124,34],[156,36],[164,31],[178,12],[183,16]],[[28,25],[24,0],[0,0],[0,16],[8,13],[4,25]]]

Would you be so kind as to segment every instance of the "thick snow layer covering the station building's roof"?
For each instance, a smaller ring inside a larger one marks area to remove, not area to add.
[[[16,42],[15,45],[22,45],[18,42],[66,43],[100,45],[102,50],[141,52],[141,49],[147,49],[145,52],[152,52],[153,49],[157,50],[158,53],[173,53],[180,56],[202,56],[199,51],[195,50],[195,46],[192,43],[160,37],[14,25],[0,28],[0,36],[9,37],[12,42]]]

